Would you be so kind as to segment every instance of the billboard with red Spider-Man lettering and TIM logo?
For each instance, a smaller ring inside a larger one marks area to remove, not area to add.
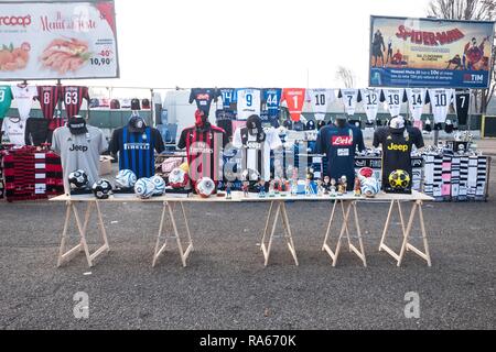
[[[370,87],[487,88],[494,22],[370,18]]]

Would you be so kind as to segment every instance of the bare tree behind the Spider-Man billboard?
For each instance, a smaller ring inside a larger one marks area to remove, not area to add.
[[[432,0],[428,15],[446,20],[495,21],[495,0]],[[475,90],[475,109],[485,113],[496,90],[496,45],[493,46],[493,76],[489,89]]]

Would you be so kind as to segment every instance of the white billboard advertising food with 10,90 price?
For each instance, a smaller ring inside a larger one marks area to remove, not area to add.
[[[0,80],[117,77],[114,1],[0,2]]]

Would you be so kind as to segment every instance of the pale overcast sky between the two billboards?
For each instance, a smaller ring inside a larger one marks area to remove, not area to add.
[[[366,86],[370,14],[425,16],[428,0],[116,0],[118,86]]]

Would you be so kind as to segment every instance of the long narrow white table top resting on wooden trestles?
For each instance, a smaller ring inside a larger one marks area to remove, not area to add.
[[[276,196],[266,198],[259,198],[257,195],[250,194],[248,197],[240,191],[233,193],[233,199],[226,199],[225,196],[217,197],[212,196],[211,198],[201,198],[200,196],[191,195],[187,198],[174,198],[174,197],[153,197],[151,199],[139,199],[134,195],[114,195],[109,199],[98,200],[100,202],[270,202],[270,201],[331,201],[331,200],[356,200],[356,201],[370,201],[370,202],[384,202],[391,200],[401,200],[401,201],[433,201],[432,197],[429,197],[424,194],[413,190],[411,195],[392,195],[380,193],[376,198],[365,198],[365,197],[355,197],[353,193],[348,193],[344,196],[339,197],[331,197],[331,196]],[[91,195],[82,195],[82,196],[58,196],[56,198],[52,198],[51,201],[76,201],[76,202],[87,202],[87,201],[96,201],[97,199]]]

